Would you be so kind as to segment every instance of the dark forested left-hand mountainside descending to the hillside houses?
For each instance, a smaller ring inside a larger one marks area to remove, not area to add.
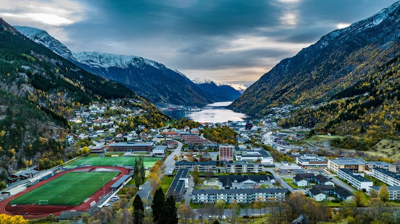
[[[73,110],[123,98],[148,112],[128,119],[135,126],[159,127],[167,120],[126,86],[85,71],[0,18],[0,181],[28,164],[74,158],[79,146],[64,141],[76,134],[67,119]]]

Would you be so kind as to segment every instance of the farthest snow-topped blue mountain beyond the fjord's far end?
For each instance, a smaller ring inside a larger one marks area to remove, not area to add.
[[[215,82],[213,80],[205,78],[194,78],[192,79],[192,82],[197,84],[197,86],[203,91],[211,93],[216,97],[223,98],[222,101],[233,101],[237,99],[240,95],[242,95],[243,92],[241,91],[243,87],[245,87],[238,84],[225,84],[222,82]],[[232,87],[231,85],[235,86],[238,89]]]

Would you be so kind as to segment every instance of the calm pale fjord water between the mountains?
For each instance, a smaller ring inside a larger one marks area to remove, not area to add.
[[[202,107],[202,111],[185,113],[179,110],[163,110],[164,113],[174,119],[181,119],[182,117],[191,119],[197,122],[226,122],[226,121],[244,121],[253,119],[254,117],[247,114],[236,113],[233,110],[225,108],[232,102],[217,102],[208,104]]]

